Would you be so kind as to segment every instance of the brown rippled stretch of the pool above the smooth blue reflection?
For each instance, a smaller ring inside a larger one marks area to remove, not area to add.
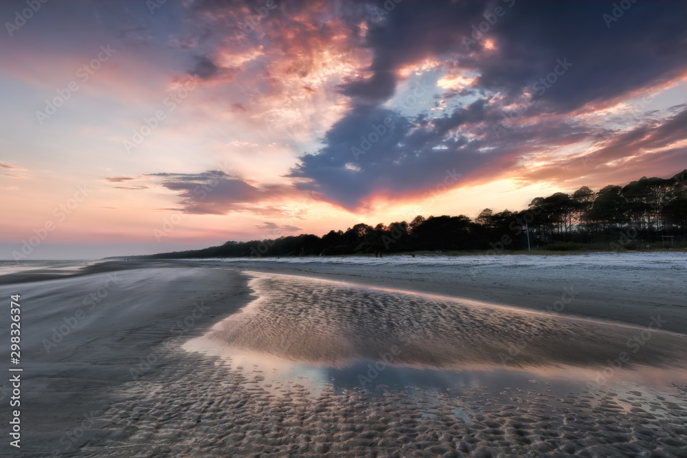
[[[686,336],[653,331],[658,329],[656,323],[661,324],[660,316],[650,331],[469,299],[307,277],[254,275],[250,286],[258,299],[216,326],[211,339],[335,367],[359,358],[436,369],[592,367],[618,358],[621,352],[627,354],[627,361],[620,361],[624,368],[684,367],[687,361]]]

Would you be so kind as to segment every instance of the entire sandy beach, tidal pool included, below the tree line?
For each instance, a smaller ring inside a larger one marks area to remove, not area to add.
[[[686,260],[3,271],[23,369],[21,448],[3,456],[684,457]]]

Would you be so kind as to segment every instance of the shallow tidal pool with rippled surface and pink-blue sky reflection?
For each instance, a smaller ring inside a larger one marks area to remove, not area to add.
[[[644,393],[687,380],[687,338],[654,327],[291,275],[251,276],[256,299],[184,348],[221,356],[274,394],[295,387],[313,396],[323,389],[460,396],[480,387],[494,395],[563,397],[609,386]]]

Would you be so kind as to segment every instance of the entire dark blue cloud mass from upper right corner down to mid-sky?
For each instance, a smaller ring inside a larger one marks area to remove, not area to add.
[[[482,14],[496,6],[504,14],[480,41],[464,45],[463,37],[470,37],[473,25],[485,21]],[[517,155],[528,148],[594,138],[598,131],[589,126],[548,116],[565,117],[585,105],[594,111],[687,71],[687,3],[632,3],[607,27],[603,14],[611,10],[613,2],[398,4],[381,21],[370,23],[364,46],[372,51],[366,69],[371,74],[339,86],[350,97],[350,111],[326,133],[324,148],[304,154],[290,176],[303,179],[298,185],[302,189],[354,209],[374,194],[423,192],[440,183],[447,170],[462,174],[454,185],[488,174],[493,178],[493,173],[515,167]],[[487,38],[495,49],[485,49]],[[449,71],[477,73],[471,89],[461,91],[482,91],[482,98],[435,119],[429,113],[409,119],[377,108],[396,93],[398,70],[426,58],[444,62]],[[526,91],[534,93],[518,116],[526,122],[494,135],[493,127],[507,113],[504,106]],[[363,154],[352,152],[364,143],[361,135],[374,133],[385,117],[393,119],[385,135]],[[653,129],[679,135],[672,128],[676,122]],[[644,134],[638,128],[629,135]],[[653,137],[618,141],[641,149],[660,143],[651,143]]]

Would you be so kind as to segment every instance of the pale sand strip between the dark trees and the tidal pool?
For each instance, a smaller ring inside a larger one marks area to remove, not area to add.
[[[560,312],[646,326],[658,314],[665,330],[687,334],[687,253],[593,253],[592,255],[461,256],[435,264],[432,257],[389,264],[385,257],[355,263],[223,260],[246,271],[333,279],[396,290],[465,297],[505,306]],[[211,264],[210,261],[203,261]],[[567,292],[576,295],[570,302]],[[561,308],[562,305],[562,308]]]

